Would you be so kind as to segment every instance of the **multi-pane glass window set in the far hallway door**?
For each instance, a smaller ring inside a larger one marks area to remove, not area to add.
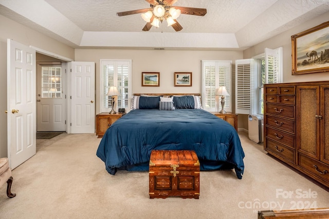
[[[41,72],[41,98],[61,98],[62,66],[42,66]]]

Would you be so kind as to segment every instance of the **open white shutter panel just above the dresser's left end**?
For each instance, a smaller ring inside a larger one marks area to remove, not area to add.
[[[265,48],[266,84],[282,83],[282,47],[278,49]]]

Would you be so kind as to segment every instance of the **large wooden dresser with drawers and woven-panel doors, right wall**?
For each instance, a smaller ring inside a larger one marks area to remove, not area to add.
[[[266,84],[264,100],[264,150],[329,191],[329,81]]]

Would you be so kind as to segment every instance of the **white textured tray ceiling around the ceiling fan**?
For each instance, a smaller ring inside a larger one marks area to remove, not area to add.
[[[0,14],[75,48],[244,49],[329,11],[329,0],[178,0],[174,6],[206,8],[181,14],[175,32],[163,22],[144,32],[144,0],[0,0]]]

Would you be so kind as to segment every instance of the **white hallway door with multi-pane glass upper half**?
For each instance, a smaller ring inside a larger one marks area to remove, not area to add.
[[[62,65],[37,65],[38,131],[66,131],[66,75]]]

